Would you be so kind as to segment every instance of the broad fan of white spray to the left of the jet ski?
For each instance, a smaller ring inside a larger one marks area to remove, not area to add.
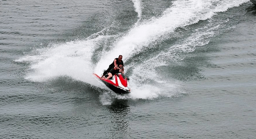
[[[60,76],[69,76],[90,84],[99,86],[92,76],[93,65],[91,57],[98,48],[98,41],[104,38],[84,41],[70,41],[51,44],[42,49],[34,50],[34,55],[27,55],[16,61],[30,62],[32,72],[25,79],[32,81],[47,81]]]

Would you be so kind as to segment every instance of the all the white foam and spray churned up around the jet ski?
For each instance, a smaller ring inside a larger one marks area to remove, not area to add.
[[[142,1],[132,0],[138,18],[142,16]],[[47,48],[36,49],[31,55],[24,56],[16,61],[30,62],[32,71],[26,76],[26,79],[32,81],[47,81],[59,76],[69,76],[92,85],[97,85],[97,80],[92,77],[91,73],[102,74],[103,69],[107,69],[109,64],[117,58],[123,56],[124,62],[133,58],[137,53],[145,49],[154,47],[150,45],[155,41],[162,41],[177,28],[184,28],[188,25],[197,23],[199,20],[210,19],[216,12],[222,12],[229,8],[239,6],[248,0],[177,0],[174,1],[170,8],[164,10],[162,16],[152,17],[151,20],[142,22],[128,30],[126,35],[122,36],[113,44],[113,49],[101,55],[97,65],[92,65],[93,52],[99,47],[98,42],[107,39],[104,32],[108,28],[92,34],[85,40],[70,41],[66,43],[50,44]],[[178,81],[162,80],[157,77],[155,68],[166,65],[159,60],[182,60],[183,58],[176,55],[175,52],[194,51],[196,46],[203,46],[209,43],[209,38],[214,34],[213,28],[209,30],[196,30],[195,33],[180,43],[177,43],[169,49],[160,51],[148,60],[142,61],[141,64],[133,63],[125,65],[133,67],[134,72],[130,76],[131,94],[125,96],[126,99],[154,99],[159,96],[171,97],[180,92],[177,89],[180,86]],[[167,59],[168,58],[168,59]],[[150,82],[156,83],[156,86]],[[161,86],[161,88],[159,88]],[[182,91],[181,91],[182,92]],[[120,96],[118,96],[120,97]],[[122,97],[121,97],[122,98]],[[108,103],[107,103],[108,104]]]

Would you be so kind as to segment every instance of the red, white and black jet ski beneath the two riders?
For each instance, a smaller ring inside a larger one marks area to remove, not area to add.
[[[93,73],[93,75],[100,79],[108,88],[114,91],[117,94],[127,94],[131,92],[131,88],[128,84],[128,78],[125,78],[122,73],[116,73],[111,79],[103,79],[100,78],[97,74]]]

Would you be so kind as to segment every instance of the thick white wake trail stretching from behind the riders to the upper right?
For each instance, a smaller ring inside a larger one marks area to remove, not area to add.
[[[137,1],[137,0],[134,0]],[[168,34],[177,28],[184,28],[195,24],[200,20],[210,19],[217,12],[226,11],[229,8],[239,6],[248,0],[177,0],[170,8],[163,12],[161,17],[153,17],[117,40],[114,47],[107,55],[103,55],[95,72],[100,73],[115,57],[121,54],[124,60],[132,58],[135,54],[154,45],[155,41],[168,38]],[[184,48],[186,49],[186,48]],[[189,49],[189,48],[188,48]]]

